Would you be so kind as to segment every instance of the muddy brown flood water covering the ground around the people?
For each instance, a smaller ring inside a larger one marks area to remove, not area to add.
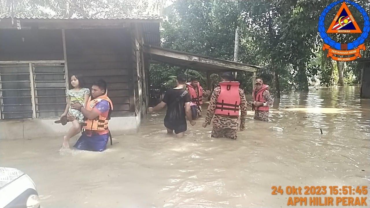
[[[43,208],[287,207],[294,196],[272,186],[370,185],[370,100],[359,92],[282,94],[268,123],[248,107],[237,140],[211,138],[204,118],[184,138],[168,136],[164,112],[148,114],[138,134],[113,135],[105,152],[60,152],[62,138],[2,140],[0,166],[30,175]]]

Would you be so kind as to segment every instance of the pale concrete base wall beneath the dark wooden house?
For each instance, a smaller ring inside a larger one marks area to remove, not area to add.
[[[0,140],[37,139],[41,137],[62,137],[71,127],[55,124],[53,118],[0,121]],[[140,125],[140,115],[132,117],[112,117],[109,129],[112,137],[122,134],[135,134]]]

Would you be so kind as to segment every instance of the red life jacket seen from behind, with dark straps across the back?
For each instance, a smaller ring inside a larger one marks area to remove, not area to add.
[[[237,81],[220,82],[220,95],[218,95],[215,114],[239,116],[240,94]]]

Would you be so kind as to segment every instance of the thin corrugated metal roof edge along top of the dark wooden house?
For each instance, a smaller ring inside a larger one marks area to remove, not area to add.
[[[101,18],[101,17],[71,17],[71,18],[65,18],[65,17],[10,17],[5,16],[1,17],[1,19],[28,19],[28,20],[158,20],[163,21],[162,17],[159,16],[138,16],[138,17],[107,17],[107,18]]]

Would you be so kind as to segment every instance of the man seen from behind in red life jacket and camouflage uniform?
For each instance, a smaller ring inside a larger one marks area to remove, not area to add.
[[[234,81],[232,73],[224,73],[218,85],[209,101],[203,128],[211,124],[213,118],[211,137],[227,137],[236,140],[238,128],[240,131],[245,129],[247,117],[245,94],[239,88],[240,83]],[[240,125],[238,125],[239,111]]]

